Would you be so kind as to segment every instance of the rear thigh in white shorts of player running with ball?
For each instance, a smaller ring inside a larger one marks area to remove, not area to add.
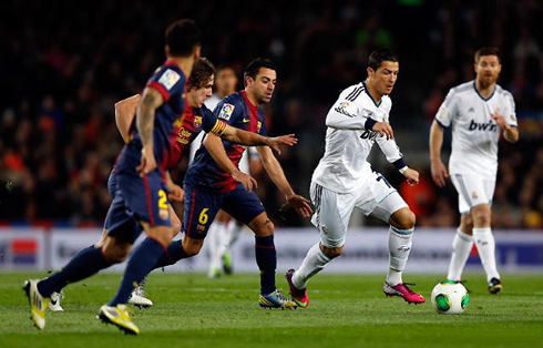
[[[319,229],[320,243],[327,248],[344,246],[356,195],[336,193],[311,182],[310,196],[315,206],[311,223]]]

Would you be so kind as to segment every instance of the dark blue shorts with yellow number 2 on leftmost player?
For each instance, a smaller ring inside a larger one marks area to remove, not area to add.
[[[139,164],[139,154],[123,151],[107,183],[110,193],[113,192],[113,202],[107,211],[105,228],[109,235],[126,242],[137,238],[140,222],[152,227],[171,226],[167,190],[161,172],[155,170],[141,177],[135,170]]]

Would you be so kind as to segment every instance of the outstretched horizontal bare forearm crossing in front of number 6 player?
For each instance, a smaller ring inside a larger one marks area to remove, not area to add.
[[[226,126],[222,137],[230,143],[246,146],[269,146],[278,154],[281,153],[280,145],[293,146],[298,143],[298,140],[294,136],[294,134],[269,137],[229,125]]]

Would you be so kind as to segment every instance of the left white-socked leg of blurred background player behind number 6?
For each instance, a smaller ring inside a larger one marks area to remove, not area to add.
[[[207,276],[216,278],[222,275],[222,256],[229,242],[228,222],[230,217],[224,211],[219,211],[215,221],[207,232],[207,244],[209,246],[209,270]]]

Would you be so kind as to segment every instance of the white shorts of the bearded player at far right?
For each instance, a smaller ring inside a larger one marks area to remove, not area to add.
[[[452,174],[451,181],[458,192],[458,209],[460,214],[469,214],[481,204],[492,204],[495,177],[484,178],[473,174]]]

